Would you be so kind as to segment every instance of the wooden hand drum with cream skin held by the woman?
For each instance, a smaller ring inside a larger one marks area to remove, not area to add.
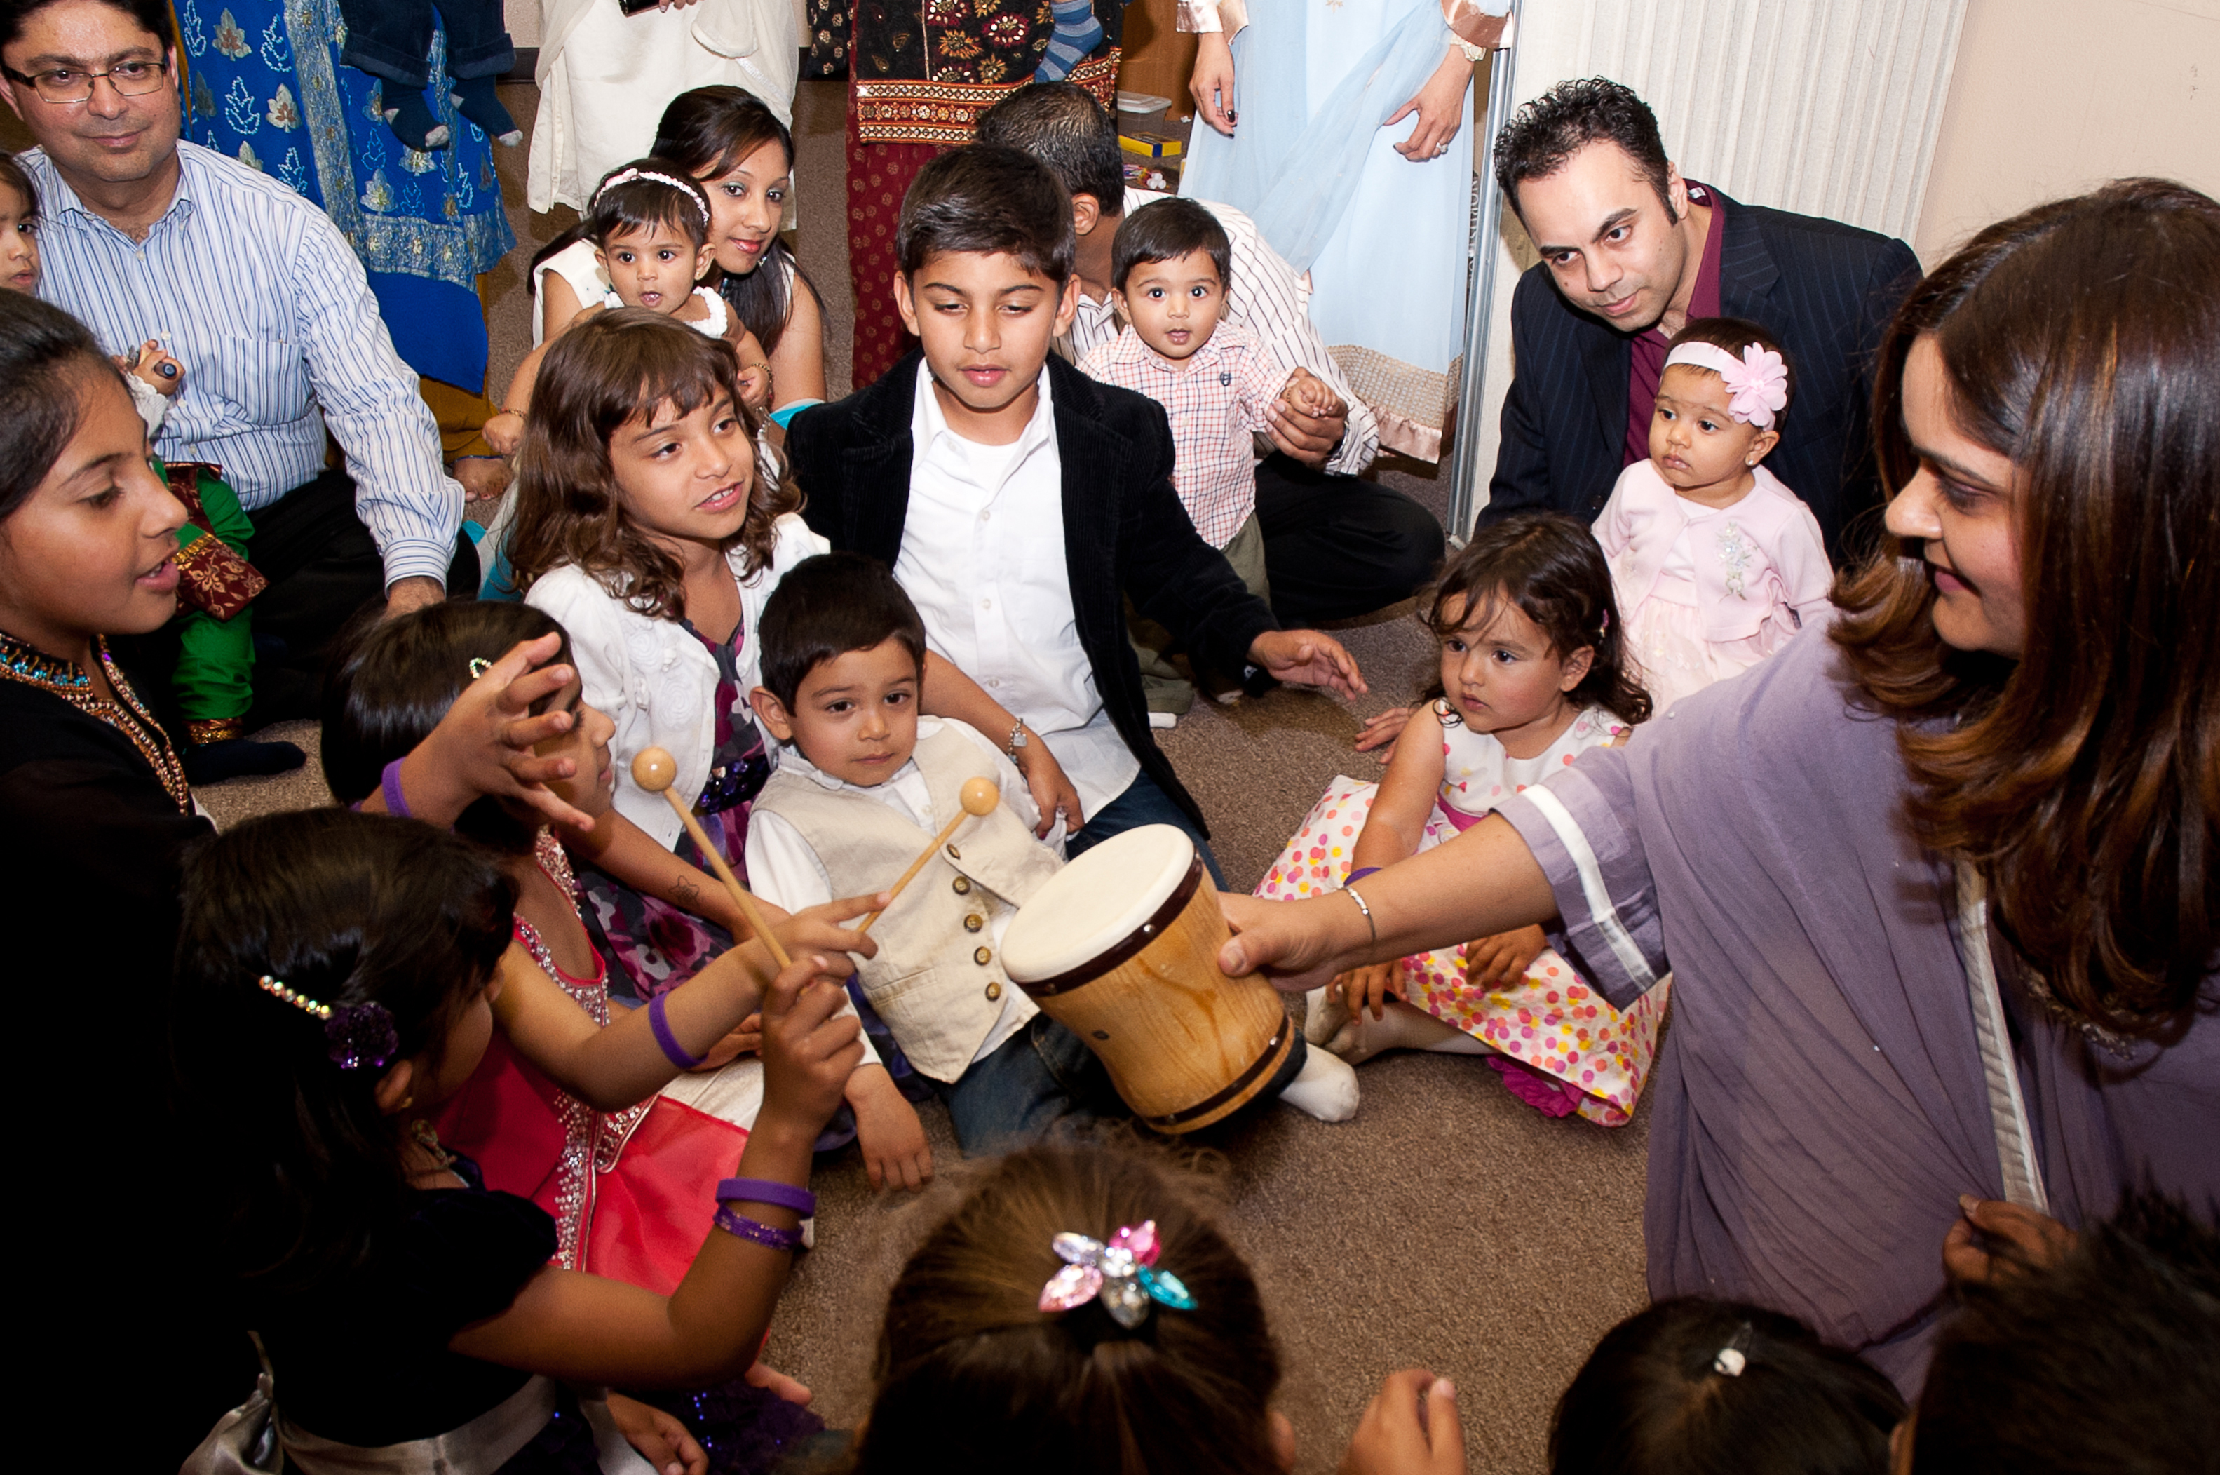
[[[1146,824],[1019,906],[1001,962],[1041,1013],[1088,1042],[1134,1115],[1190,1133],[1248,1104],[1294,1048],[1279,991],[1219,973],[1225,937],[1194,842]]]

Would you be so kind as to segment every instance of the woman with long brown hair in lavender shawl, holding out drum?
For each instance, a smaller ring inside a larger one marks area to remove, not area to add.
[[[1363,909],[1225,897],[1221,962],[1305,989],[1561,917],[1614,1004],[1672,969],[1649,1291],[1909,1391],[1945,1262],[2131,1186],[2220,1204],[2220,204],[2122,180],[1989,227],[1898,311],[1874,424],[1889,538],[1829,638]]]

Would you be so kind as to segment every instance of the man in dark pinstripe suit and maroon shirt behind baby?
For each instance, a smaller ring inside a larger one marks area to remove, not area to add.
[[[1767,466],[1812,506],[1836,566],[1856,558],[1880,522],[1874,353],[1920,275],[1911,249],[1683,180],[1649,107],[1603,78],[1521,107],[1494,153],[1543,260],[1512,298],[1516,378],[1481,518],[1603,511],[1647,455],[1665,342],[1727,315],[1787,351],[1796,402]]]

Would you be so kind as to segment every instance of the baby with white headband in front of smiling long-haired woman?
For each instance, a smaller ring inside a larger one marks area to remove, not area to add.
[[[593,191],[586,218],[564,231],[533,258],[533,282],[548,258],[577,242],[593,242],[593,264],[608,278],[608,291],[595,291],[591,307],[551,331],[546,342],[524,355],[502,413],[486,420],[484,435],[502,455],[515,455],[524,444],[524,422],[533,407],[533,387],[548,347],[566,331],[591,322],[613,307],[644,307],[675,318],[695,331],[733,344],[739,353],[739,398],[761,411],[770,402],[770,362],[755,333],[733,315],[724,298],[699,287],[717,251],[708,240],[708,195],[677,164],[644,158],[613,171]]]

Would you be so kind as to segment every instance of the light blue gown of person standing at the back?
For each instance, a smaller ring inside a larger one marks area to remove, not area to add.
[[[1381,446],[1434,460],[1463,347],[1472,91],[1456,142],[1405,160],[1416,113],[1381,127],[1441,64],[1439,0],[1252,0],[1234,38],[1225,138],[1197,120],[1181,193],[1248,211],[1296,271],[1310,318],[1379,411]]]

